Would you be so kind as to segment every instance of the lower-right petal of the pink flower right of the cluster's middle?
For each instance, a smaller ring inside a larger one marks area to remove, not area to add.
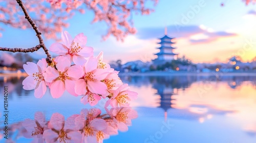
[[[87,81],[87,86],[92,93],[97,93],[97,94],[105,94],[106,89],[108,89],[105,83],[101,81]]]

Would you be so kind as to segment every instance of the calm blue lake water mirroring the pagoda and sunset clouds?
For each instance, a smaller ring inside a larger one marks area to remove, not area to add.
[[[80,103],[69,93],[52,99],[50,91],[41,99],[22,88],[24,78],[0,77],[1,135],[4,129],[4,86],[8,86],[8,141],[30,142],[23,137],[20,124],[35,114],[46,121],[58,113],[65,120],[82,110],[97,108],[101,114],[104,101],[95,107]],[[256,76],[133,76],[121,79],[139,93],[131,106],[138,117],[132,118],[128,131],[119,131],[103,142],[256,142]],[[111,109],[110,109],[111,110]],[[34,140],[35,141],[35,140]]]

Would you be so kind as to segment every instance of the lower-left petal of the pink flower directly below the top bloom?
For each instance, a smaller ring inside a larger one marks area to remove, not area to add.
[[[65,91],[64,82],[61,80],[56,80],[51,84],[51,95],[53,98],[59,98]]]

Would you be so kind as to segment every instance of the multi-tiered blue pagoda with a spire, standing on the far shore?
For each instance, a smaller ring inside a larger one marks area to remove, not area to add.
[[[172,41],[174,38],[167,36],[167,28],[165,28],[164,34],[165,35],[160,38],[161,41],[158,42],[161,46],[157,48],[160,52],[155,54],[157,55],[157,58],[153,60],[155,64],[164,64],[166,62],[171,62],[173,59],[177,59],[178,54],[173,53],[173,50],[176,49],[172,46],[172,44],[175,43]]]

